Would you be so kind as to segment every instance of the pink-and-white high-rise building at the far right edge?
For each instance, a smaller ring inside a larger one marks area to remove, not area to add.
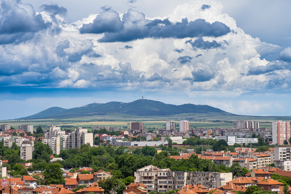
[[[272,122],[273,145],[284,145],[284,140],[289,143],[290,122],[275,121]]]

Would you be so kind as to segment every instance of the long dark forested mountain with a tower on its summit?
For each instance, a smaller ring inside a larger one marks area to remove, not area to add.
[[[92,103],[82,107],[63,109],[60,107],[52,107],[39,112],[35,115],[22,117],[19,119],[48,119],[60,117],[77,117],[91,115],[105,115],[109,113],[123,113],[137,116],[160,116],[175,115],[182,113],[214,113],[220,115],[234,115],[229,112],[214,108],[209,105],[172,105],[163,102],[139,99],[129,103],[123,102],[107,102],[104,104]]]

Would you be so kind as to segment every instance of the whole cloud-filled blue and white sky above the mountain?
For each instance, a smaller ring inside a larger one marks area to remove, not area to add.
[[[0,2],[0,120],[142,96],[291,116],[290,1]]]

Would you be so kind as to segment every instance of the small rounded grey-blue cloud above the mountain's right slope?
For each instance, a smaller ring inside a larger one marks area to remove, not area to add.
[[[193,69],[193,82],[206,82],[213,78],[215,72],[207,64],[200,65],[198,68]]]

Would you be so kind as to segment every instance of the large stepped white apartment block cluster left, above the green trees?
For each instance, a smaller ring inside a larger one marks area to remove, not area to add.
[[[93,146],[93,134],[87,129],[77,127],[74,131],[61,131],[60,127],[51,125],[49,132],[45,132],[43,144],[49,145],[53,153],[59,154],[62,149],[80,148],[82,144],[90,143]]]

